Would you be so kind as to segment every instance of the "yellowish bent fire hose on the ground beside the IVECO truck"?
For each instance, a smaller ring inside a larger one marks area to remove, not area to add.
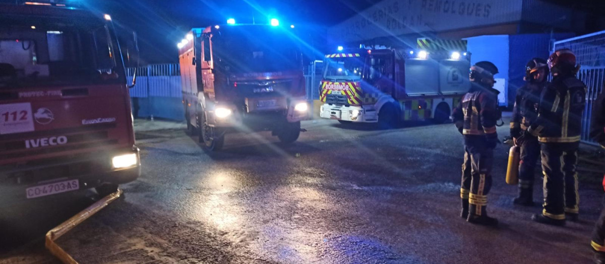
[[[108,204],[115,201],[117,198],[122,195],[122,189],[118,189],[117,192],[111,193],[103,197],[101,200],[82,210],[82,212],[77,213],[77,215],[72,216],[67,221],[58,225],[57,227],[51,229],[46,233],[46,248],[50,251],[53,256],[57,257],[61,262],[66,264],[77,264],[78,262],[67,254],[63,248],[59,247],[54,241],[59,239],[59,237],[63,236],[65,233],[81,224],[86,219],[93,216],[95,213],[99,212],[101,209],[105,208]]]

